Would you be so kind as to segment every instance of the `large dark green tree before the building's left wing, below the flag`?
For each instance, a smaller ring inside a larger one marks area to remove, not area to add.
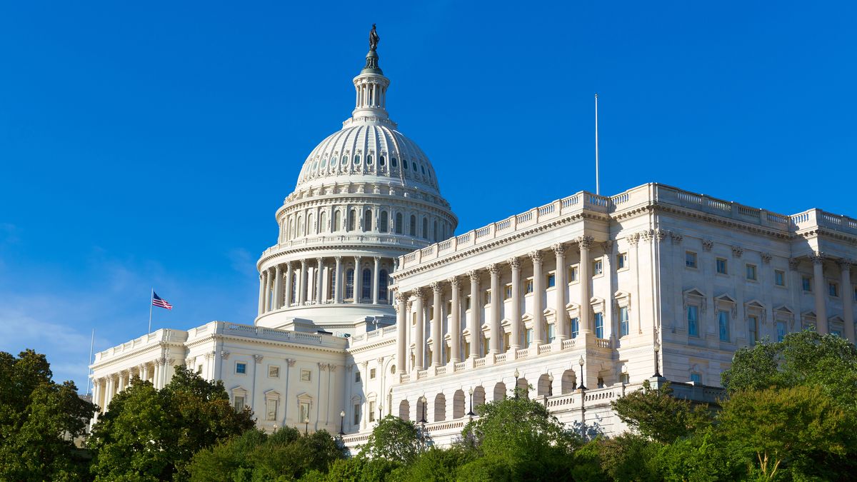
[[[98,480],[187,479],[193,455],[254,425],[236,413],[222,382],[176,367],[164,389],[135,378],[117,394],[89,438]]]

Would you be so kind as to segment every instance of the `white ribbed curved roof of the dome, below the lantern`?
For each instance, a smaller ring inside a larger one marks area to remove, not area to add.
[[[305,184],[387,181],[439,191],[434,168],[416,142],[386,124],[347,124],[309,154],[297,188]]]

